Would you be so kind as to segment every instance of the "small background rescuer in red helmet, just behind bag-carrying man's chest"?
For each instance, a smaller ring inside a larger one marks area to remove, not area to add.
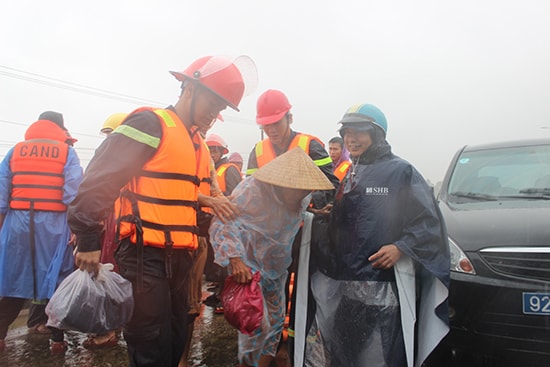
[[[216,134],[208,135],[206,137],[206,145],[208,145],[210,155],[216,167],[218,185],[223,194],[229,196],[233,192],[233,189],[241,182],[240,170],[225,157],[229,153],[229,149],[227,149],[227,144],[221,136]]]

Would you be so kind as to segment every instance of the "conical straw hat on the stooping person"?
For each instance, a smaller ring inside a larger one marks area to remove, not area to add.
[[[281,154],[252,176],[259,181],[291,189],[334,189],[334,185],[299,147]]]

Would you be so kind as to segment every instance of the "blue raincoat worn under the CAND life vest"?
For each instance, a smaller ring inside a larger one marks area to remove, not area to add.
[[[28,210],[9,209],[13,148],[0,164],[0,213],[5,214],[0,231],[0,296],[49,299],[61,281],[74,270],[73,248],[68,246],[70,230],[66,212],[34,212],[36,249],[36,295],[33,292]],[[82,167],[76,152],[69,147],[63,203],[76,196]]]

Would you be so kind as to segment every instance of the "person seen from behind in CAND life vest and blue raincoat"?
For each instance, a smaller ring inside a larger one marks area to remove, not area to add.
[[[27,326],[51,334],[50,351],[67,348],[63,331],[45,326],[45,307],[72,273],[67,205],[76,196],[82,167],[67,142],[63,115],[46,111],[0,164],[0,351],[9,325],[27,299]]]

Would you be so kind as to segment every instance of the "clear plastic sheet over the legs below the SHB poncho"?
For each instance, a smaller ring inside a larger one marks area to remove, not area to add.
[[[319,329],[308,335],[305,365],[406,365],[395,283],[334,280],[319,272],[311,283]]]

